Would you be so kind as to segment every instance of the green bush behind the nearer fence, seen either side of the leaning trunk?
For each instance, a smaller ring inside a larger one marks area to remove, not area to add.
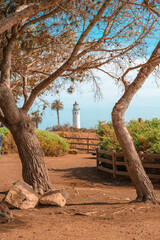
[[[131,134],[136,150],[144,153],[160,154],[160,120],[130,121],[127,129]],[[122,152],[111,123],[99,122],[100,147],[104,150]]]

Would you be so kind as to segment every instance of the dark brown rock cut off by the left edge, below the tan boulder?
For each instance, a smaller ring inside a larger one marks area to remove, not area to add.
[[[7,207],[5,202],[0,203],[0,221],[2,223],[9,222],[13,217],[12,212]]]

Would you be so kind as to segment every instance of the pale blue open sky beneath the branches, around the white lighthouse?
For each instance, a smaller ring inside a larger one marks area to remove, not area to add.
[[[91,83],[80,85],[73,94],[68,94],[65,91],[60,93],[60,101],[64,105],[64,109],[60,111],[61,125],[69,123],[72,126],[72,109],[75,101],[80,107],[81,128],[94,128],[98,121],[111,121],[112,109],[123,91],[107,75],[100,73],[99,77],[101,78],[100,87],[103,94],[103,98],[99,101],[94,99]],[[47,98],[49,102],[53,102],[55,99],[57,97],[48,96]],[[157,86],[153,76],[146,80],[125,113],[126,122],[137,118],[144,120],[160,118],[160,87]],[[39,129],[44,130],[54,125],[57,125],[57,114],[56,111],[48,107],[44,112],[42,123],[39,124]]]

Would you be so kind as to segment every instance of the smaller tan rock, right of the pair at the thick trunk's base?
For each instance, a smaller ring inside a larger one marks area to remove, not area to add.
[[[64,207],[66,204],[66,199],[68,198],[68,193],[64,190],[51,190],[44,194],[39,202],[44,205],[53,205]]]

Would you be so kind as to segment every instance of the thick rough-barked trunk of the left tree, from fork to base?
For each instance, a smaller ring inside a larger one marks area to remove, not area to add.
[[[35,134],[32,121],[27,117],[10,127],[22,162],[22,176],[26,183],[40,194],[51,189],[44,154]]]

